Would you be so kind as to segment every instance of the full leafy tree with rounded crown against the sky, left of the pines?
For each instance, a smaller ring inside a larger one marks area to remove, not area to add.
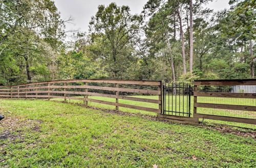
[[[112,77],[120,78],[121,73],[133,63],[133,50],[138,42],[136,36],[141,22],[142,17],[130,14],[128,6],[118,7],[115,3],[107,7],[100,5],[96,15],[92,17],[91,40],[102,47],[98,48],[98,55],[103,58],[104,65],[108,65],[105,70]]]

